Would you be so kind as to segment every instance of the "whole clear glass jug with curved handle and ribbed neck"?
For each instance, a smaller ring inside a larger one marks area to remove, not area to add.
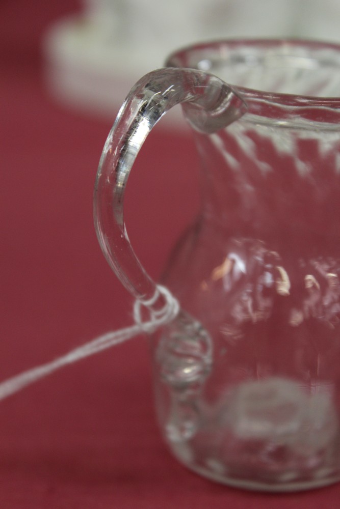
[[[152,336],[173,454],[233,486],[298,490],[340,474],[340,47],[222,41],[174,53],[130,92],[95,188],[102,250],[154,313],[123,197],[152,126],[181,103],[202,207],[164,284],[179,316]],[[230,83],[230,84],[229,84]],[[161,171],[161,170],[160,170]]]

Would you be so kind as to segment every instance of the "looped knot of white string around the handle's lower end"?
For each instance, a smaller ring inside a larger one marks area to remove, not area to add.
[[[165,304],[161,309],[154,310],[151,306],[158,299],[160,294],[163,295]],[[148,321],[143,321],[142,319],[143,307],[147,308],[150,312],[150,319]],[[157,285],[156,291],[150,300],[144,302],[136,300],[134,305],[134,319],[141,330],[151,334],[162,325],[174,320],[179,313],[179,309],[179,302],[172,293],[166,287]]]

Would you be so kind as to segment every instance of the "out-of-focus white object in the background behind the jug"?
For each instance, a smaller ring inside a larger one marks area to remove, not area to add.
[[[337,39],[339,0],[83,0],[43,45],[49,89],[113,118],[128,90],[180,46],[221,38]],[[174,116],[168,115],[172,122]]]

